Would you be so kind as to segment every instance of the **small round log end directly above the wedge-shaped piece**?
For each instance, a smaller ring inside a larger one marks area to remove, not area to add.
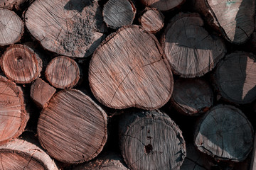
[[[69,57],[55,57],[46,67],[46,79],[56,88],[72,88],[80,79],[78,64]]]

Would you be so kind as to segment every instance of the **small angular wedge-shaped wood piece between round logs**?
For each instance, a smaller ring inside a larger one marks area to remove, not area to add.
[[[55,94],[55,89],[42,79],[36,79],[31,85],[31,98],[39,108],[45,108]]]

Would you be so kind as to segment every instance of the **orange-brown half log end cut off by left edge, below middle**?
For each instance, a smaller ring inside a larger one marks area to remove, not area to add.
[[[0,76],[0,91],[0,145],[3,145],[21,135],[29,115],[21,88],[14,82]]]

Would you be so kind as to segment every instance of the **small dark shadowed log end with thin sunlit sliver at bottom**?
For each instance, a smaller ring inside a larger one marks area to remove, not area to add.
[[[198,115],[213,106],[213,90],[202,79],[178,79],[174,83],[171,103],[184,115]]]

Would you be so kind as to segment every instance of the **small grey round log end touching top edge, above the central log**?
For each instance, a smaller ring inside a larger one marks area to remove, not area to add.
[[[132,24],[136,8],[130,0],[109,0],[103,8],[103,19],[108,27],[117,29]]]

